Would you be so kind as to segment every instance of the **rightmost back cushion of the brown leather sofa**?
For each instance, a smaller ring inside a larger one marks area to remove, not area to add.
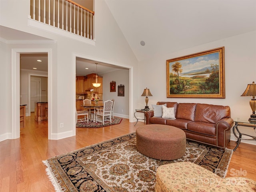
[[[222,118],[230,118],[229,106],[200,103],[196,105],[195,121],[216,123]]]

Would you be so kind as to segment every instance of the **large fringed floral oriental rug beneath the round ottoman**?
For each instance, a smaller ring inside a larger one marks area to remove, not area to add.
[[[163,164],[189,161],[225,177],[232,150],[219,151],[187,140],[177,160],[148,158],[136,149],[136,133],[84,147],[44,161],[56,191],[154,192],[156,170]]]

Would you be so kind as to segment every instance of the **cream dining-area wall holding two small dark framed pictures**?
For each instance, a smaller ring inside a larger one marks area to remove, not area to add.
[[[129,70],[122,69],[103,75],[103,100],[114,99],[114,115],[129,118]],[[116,82],[116,92],[110,92],[110,82]],[[124,85],[124,97],[118,95],[118,85]]]

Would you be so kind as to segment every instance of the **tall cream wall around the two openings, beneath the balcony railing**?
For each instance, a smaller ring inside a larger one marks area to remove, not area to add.
[[[12,12],[8,11],[12,10]],[[65,38],[50,32],[39,30],[28,26],[28,15],[30,11],[30,0],[1,0],[0,1],[0,25],[36,34],[51,40],[55,40],[56,44],[30,44],[17,42],[16,44],[9,44],[7,42],[6,49],[2,50],[1,54],[6,56],[6,62],[1,60],[1,74],[3,74],[2,82],[8,82],[0,87],[4,90],[6,95],[1,95],[0,100],[6,100],[3,105],[4,114],[3,124],[7,128],[0,127],[1,134],[12,132],[11,130],[11,50],[12,48],[50,48],[52,50],[52,66],[48,68],[51,71],[52,82],[49,89],[51,92],[51,137],[52,139],[65,138],[75,135],[75,60],[74,55],[84,56],[85,58],[92,58],[93,60],[100,60],[101,62],[116,64],[128,68],[133,68],[138,71],[137,60],[134,56],[130,46],[126,42],[122,32],[117,26],[112,14],[110,13],[105,1],[95,1],[95,38],[96,45],[92,46],[82,42],[73,40],[72,38]],[[14,16],[15,12],[19,17]],[[4,18],[4,19],[2,19]],[[1,58],[2,59],[2,58]],[[133,70],[132,69],[132,70]],[[137,79],[136,73],[132,74],[132,80]],[[138,80],[138,79],[137,79]],[[134,86],[134,84],[133,84]],[[136,90],[131,94],[136,94]],[[136,102],[136,100],[135,100]],[[135,105],[135,104],[134,104]],[[2,106],[1,106],[2,107]],[[60,123],[64,123],[64,128],[60,128]],[[3,131],[2,131],[3,130]],[[3,137],[6,137],[5,135]],[[7,138],[7,137],[6,137]]]

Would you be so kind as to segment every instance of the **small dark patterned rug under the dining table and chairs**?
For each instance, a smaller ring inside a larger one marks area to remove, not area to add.
[[[110,126],[110,125],[120,124],[121,121],[122,121],[122,118],[115,117],[115,118],[112,118],[112,123],[110,123],[110,120],[107,120],[104,122],[104,125],[102,122],[93,122],[93,121],[89,121],[88,123],[87,122],[77,122],[76,127],[100,128],[100,127],[106,127],[106,126]]]

